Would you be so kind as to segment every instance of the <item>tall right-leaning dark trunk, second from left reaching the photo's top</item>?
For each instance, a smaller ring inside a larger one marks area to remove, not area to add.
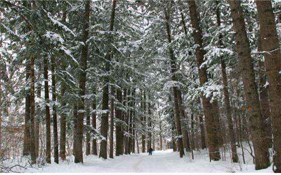
[[[116,1],[113,0],[112,4],[112,11],[111,11],[111,17],[110,17],[110,26],[109,26],[109,31],[113,31],[113,24],[114,24],[114,16],[115,16],[115,6],[116,6]],[[110,55],[107,54],[107,61],[105,63],[105,71],[109,72],[110,70]],[[108,110],[108,77],[105,77],[104,84],[105,86],[102,89],[102,110]],[[104,159],[107,158],[107,131],[108,131],[108,111],[102,114],[101,117],[101,125],[100,125],[100,133],[104,137],[103,140],[100,142],[100,152],[99,152],[99,157],[102,157]]]

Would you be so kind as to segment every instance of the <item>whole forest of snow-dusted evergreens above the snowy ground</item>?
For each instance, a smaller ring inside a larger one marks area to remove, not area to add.
[[[0,1],[0,159],[208,148],[281,172],[281,2]],[[279,36],[278,36],[279,34]],[[0,163],[1,163],[0,161]],[[241,160],[242,161],[242,160]],[[206,162],[207,163],[207,162]]]

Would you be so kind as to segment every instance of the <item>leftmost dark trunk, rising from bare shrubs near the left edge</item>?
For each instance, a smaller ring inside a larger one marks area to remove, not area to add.
[[[26,62],[26,81],[27,81],[27,90],[25,91],[26,99],[25,99],[25,131],[24,131],[24,150],[23,155],[30,155],[30,60],[27,59]]]

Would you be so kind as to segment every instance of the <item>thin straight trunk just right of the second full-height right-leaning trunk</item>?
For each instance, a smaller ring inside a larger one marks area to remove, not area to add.
[[[110,147],[109,158],[113,158],[113,122],[114,120],[114,86],[111,86],[111,99],[110,99]]]

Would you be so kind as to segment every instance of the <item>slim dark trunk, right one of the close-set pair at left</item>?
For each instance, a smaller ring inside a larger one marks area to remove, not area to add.
[[[59,143],[58,143],[58,125],[57,125],[57,106],[56,106],[56,61],[54,56],[51,57],[52,71],[52,100],[53,100],[53,132],[54,132],[54,158],[55,162],[59,163]]]

